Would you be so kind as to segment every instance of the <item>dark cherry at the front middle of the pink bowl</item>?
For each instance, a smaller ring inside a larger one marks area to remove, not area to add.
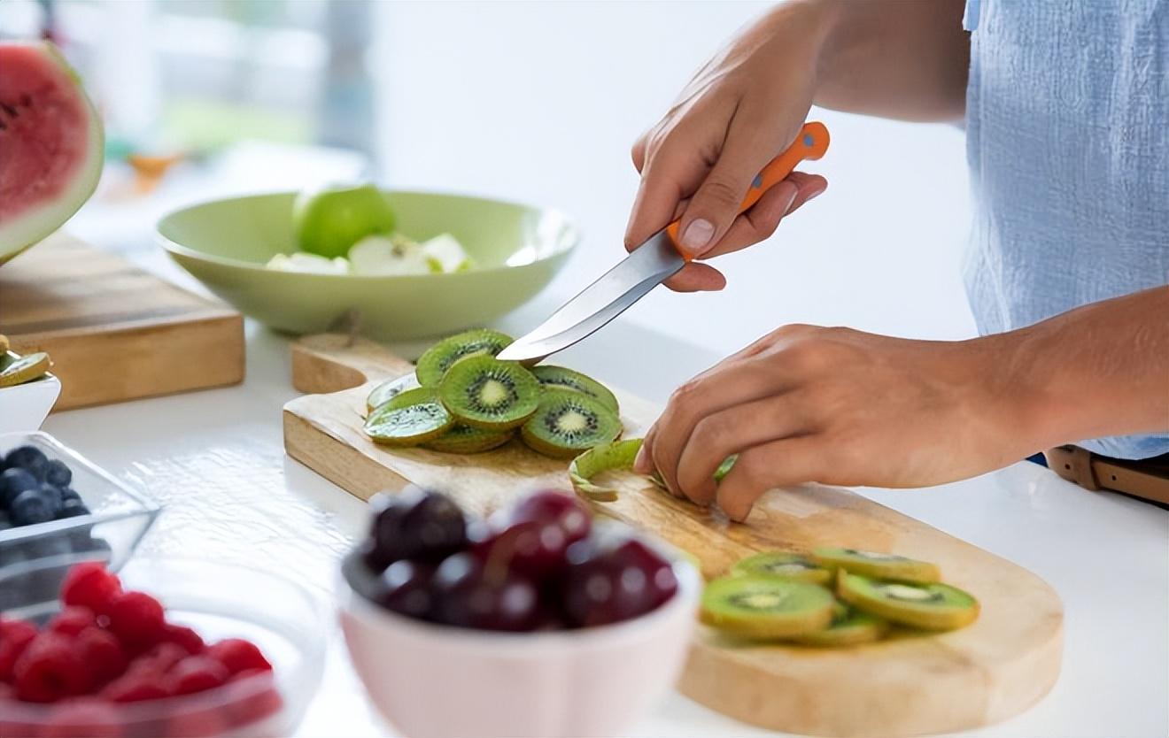
[[[532,631],[546,619],[535,584],[503,566],[486,566],[471,554],[447,558],[433,583],[438,622],[480,631]]]

